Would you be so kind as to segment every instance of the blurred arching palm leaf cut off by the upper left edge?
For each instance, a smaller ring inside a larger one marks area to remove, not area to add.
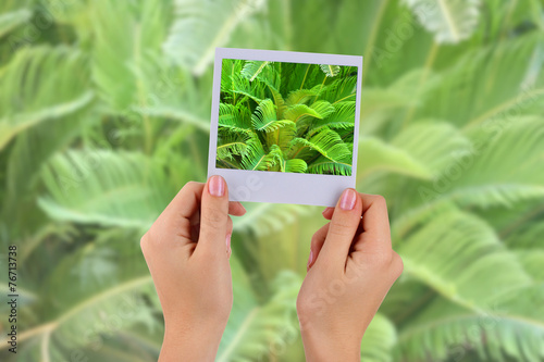
[[[0,75],[0,150],[15,135],[89,104],[94,95],[86,64],[83,53],[66,47],[17,52]]]

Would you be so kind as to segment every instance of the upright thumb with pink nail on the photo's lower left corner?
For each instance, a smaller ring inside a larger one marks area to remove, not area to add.
[[[224,253],[228,224],[228,190],[221,176],[211,176],[202,190],[200,235],[195,252]]]

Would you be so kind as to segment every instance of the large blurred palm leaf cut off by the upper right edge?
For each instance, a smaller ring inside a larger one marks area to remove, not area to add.
[[[416,118],[443,118],[466,128],[496,128],[511,116],[534,114],[544,99],[540,32],[467,51],[425,91]],[[466,104],[462,109],[457,104]]]

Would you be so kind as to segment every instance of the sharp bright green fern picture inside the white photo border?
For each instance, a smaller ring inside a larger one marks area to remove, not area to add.
[[[351,175],[357,67],[224,59],[220,168]]]

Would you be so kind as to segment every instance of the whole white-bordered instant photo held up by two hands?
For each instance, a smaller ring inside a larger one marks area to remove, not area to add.
[[[208,177],[232,201],[334,207],[355,187],[362,57],[217,48]]]

